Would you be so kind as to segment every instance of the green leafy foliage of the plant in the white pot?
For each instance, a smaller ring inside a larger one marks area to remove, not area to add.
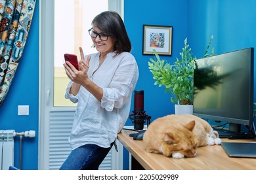
[[[211,36],[203,57],[208,56],[207,52],[212,39],[213,36]],[[171,102],[176,105],[193,105],[194,67],[196,57],[193,56],[191,50],[187,39],[185,39],[184,48],[182,48],[182,52],[180,53],[181,59],[177,58],[173,65],[164,59],[160,59],[156,50],[153,50],[156,60],[150,58],[150,61],[148,61],[148,68],[153,74],[153,78],[156,80],[154,84],[159,87],[165,86],[165,93],[171,93]],[[213,49],[211,55],[213,55]]]

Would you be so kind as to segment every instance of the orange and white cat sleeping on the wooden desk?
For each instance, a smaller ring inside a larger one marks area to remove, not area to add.
[[[217,131],[191,114],[171,114],[154,120],[143,141],[147,152],[173,158],[194,157],[200,146],[221,144]]]

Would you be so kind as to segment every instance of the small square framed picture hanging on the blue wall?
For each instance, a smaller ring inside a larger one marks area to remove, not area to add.
[[[155,49],[159,55],[171,56],[172,26],[143,25],[142,54],[153,54]]]

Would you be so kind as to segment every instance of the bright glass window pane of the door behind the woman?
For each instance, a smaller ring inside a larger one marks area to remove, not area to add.
[[[84,54],[96,52],[91,48],[93,42],[88,30],[93,18],[105,10],[108,10],[108,0],[54,1],[54,106],[76,105],[64,98],[70,81],[62,65],[64,54],[76,54],[80,59],[79,47],[83,48]]]

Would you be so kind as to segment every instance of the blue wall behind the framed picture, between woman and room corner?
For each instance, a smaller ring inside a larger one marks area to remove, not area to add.
[[[166,1],[125,1],[125,25],[131,39],[132,54],[139,65],[139,81],[135,90],[144,90],[144,110],[152,120],[174,111],[169,93],[165,88],[154,86],[155,80],[148,69],[148,61],[152,55],[142,55],[143,25],[173,26],[172,56],[161,56],[168,61],[175,61],[188,35],[188,3],[186,0]],[[182,11],[181,11],[182,10]],[[131,107],[133,110],[133,105]],[[128,120],[127,125],[132,125]]]

